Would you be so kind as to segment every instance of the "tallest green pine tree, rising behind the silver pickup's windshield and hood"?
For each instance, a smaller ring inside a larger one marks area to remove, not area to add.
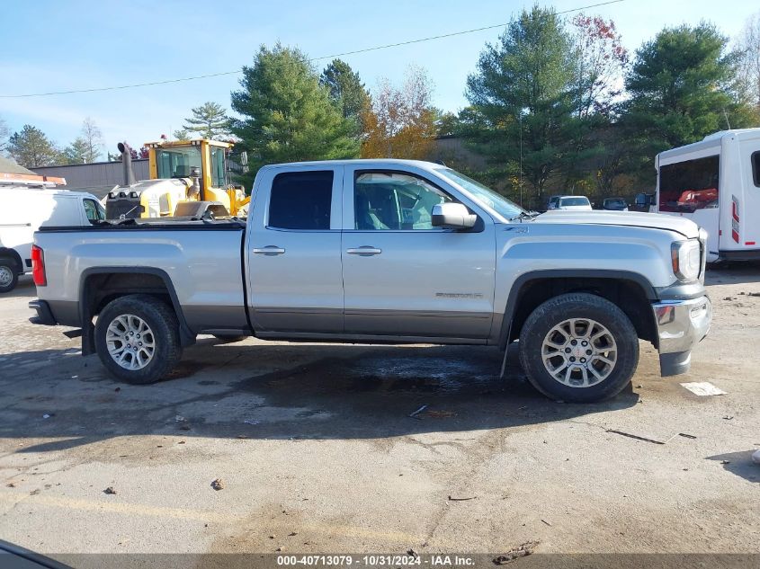
[[[573,57],[559,16],[533,6],[507,24],[496,45],[487,44],[467,80],[470,106],[458,129],[513,189],[522,163],[532,207],[545,205],[550,177],[565,176],[585,150],[585,123],[574,112]]]

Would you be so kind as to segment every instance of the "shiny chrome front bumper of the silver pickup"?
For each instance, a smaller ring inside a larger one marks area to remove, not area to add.
[[[687,372],[692,364],[692,348],[710,331],[710,298],[662,300],[652,309],[657,323],[660,373],[675,376]]]

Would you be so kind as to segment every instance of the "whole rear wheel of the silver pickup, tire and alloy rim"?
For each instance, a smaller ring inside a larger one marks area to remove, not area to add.
[[[113,376],[131,384],[154,383],[182,356],[174,310],[148,295],[112,300],[95,325],[95,348]]]

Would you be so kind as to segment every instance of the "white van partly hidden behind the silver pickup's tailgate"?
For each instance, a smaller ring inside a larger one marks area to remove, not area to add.
[[[31,244],[40,227],[88,226],[105,219],[91,193],[0,186],[0,293],[31,271]]]

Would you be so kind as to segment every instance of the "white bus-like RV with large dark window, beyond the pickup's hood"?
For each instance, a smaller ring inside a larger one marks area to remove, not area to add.
[[[708,262],[760,260],[760,129],[723,130],[657,155],[653,211],[708,232]]]

